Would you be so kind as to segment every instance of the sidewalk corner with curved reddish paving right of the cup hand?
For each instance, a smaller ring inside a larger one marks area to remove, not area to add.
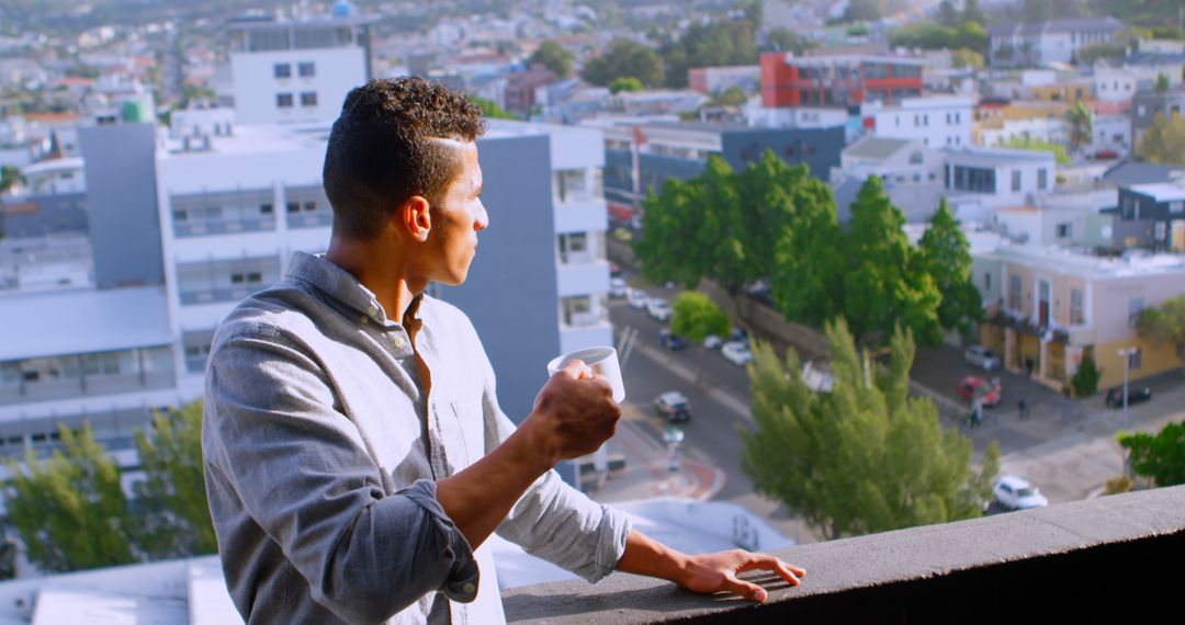
[[[581,490],[595,501],[610,503],[654,497],[706,501],[724,488],[724,471],[706,463],[681,458],[679,469],[672,471],[666,447],[640,430],[649,427],[643,423],[647,419],[633,404],[622,406],[617,433],[607,445],[610,459],[624,459],[624,466],[598,472],[592,469],[591,456],[582,458]]]

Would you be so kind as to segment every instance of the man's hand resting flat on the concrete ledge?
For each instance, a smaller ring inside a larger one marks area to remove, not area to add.
[[[683,574],[673,579],[675,584],[698,593],[735,592],[745,599],[764,601],[766,589],[737,578],[745,571],[773,571],[790,586],[802,584],[799,578],[806,571],[782,562],[767,554],[749,553],[743,549],[685,556]]]

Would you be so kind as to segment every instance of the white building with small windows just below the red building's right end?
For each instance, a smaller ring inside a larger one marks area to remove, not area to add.
[[[878,137],[920,141],[935,149],[972,144],[975,102],[960,96],[905,98],[899,105],[864,104]]]

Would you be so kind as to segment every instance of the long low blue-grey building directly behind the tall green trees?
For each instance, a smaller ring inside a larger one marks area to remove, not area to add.
[[[756,162],[767,150],[783,161],[806,163],[824,180],[840,165],[844,128],[752,128],[743,124],[649,122],[604,128],[604,195],[617,219],[638,214],[651,191],[668,178],[698,176],[707,157],[719,156],[735,170]]]

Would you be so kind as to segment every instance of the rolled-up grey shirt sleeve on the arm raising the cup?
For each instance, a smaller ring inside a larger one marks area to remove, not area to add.
[[[223,548],[262,529],[340,618],[380,621],[433,591],[476,597],[476,561],[436,484],[387,492],[316,360],[282,331],[216,342],[203,447]]]

